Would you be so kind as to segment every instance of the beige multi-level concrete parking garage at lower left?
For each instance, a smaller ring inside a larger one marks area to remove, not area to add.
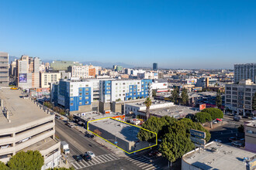
[[[37,150],[44,158],[42,169],[57,167],[61,142],[55,138],[54,115],[21,95],[9,88],[0,91],[0,161],[8,162],[18,151]]]

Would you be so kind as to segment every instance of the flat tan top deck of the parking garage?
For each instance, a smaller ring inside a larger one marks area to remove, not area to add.
[[[0,89],[0,99],[3,100],[3,106],[9,110],[9,120],[6,119],[0,110],[0,129],[14,128],[22,124],[28,124],[31,121],[37,121],[44,117],[50,117],[50,114],[45,113],[37,107],[36,104],[29,99],[23,99],[20,90],[10,90],[9,88]]]

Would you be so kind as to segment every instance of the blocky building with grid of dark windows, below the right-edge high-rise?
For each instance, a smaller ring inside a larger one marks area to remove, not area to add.
[[[225,106],[237,114],[251,116],[252,99],[256,84],[251,80],[240,80],[239,83],[227,83],[225,86]]]

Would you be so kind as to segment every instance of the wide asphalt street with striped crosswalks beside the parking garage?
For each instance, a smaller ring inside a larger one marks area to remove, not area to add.
[[[77,131],[74,128],[69,128],[64,124],[64,121],[56,121],[56,134],[61,141],[67,141],[71,153],[67,156],[68,162],[75,169],[158,169],[158,165],[154,164],[154,160],[161,164],[159,158],[147,158],[144,155],[129,155],[127,157],[119,157],[111,151],[102,147],[92,139],[85,137],[85,134]],[[95,158],[92,161],[76,162],[73,155],[85,154],[85,151],[92,151]]]

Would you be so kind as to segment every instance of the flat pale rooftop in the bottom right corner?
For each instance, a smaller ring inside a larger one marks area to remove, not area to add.
[[[216,148],[216,152],[212,152]],[[204,150],[193,151],[183,156],[183,160],[200,169],[246,169],[244,157],[252,158],[255,154],[240,148],[211,142]]]

